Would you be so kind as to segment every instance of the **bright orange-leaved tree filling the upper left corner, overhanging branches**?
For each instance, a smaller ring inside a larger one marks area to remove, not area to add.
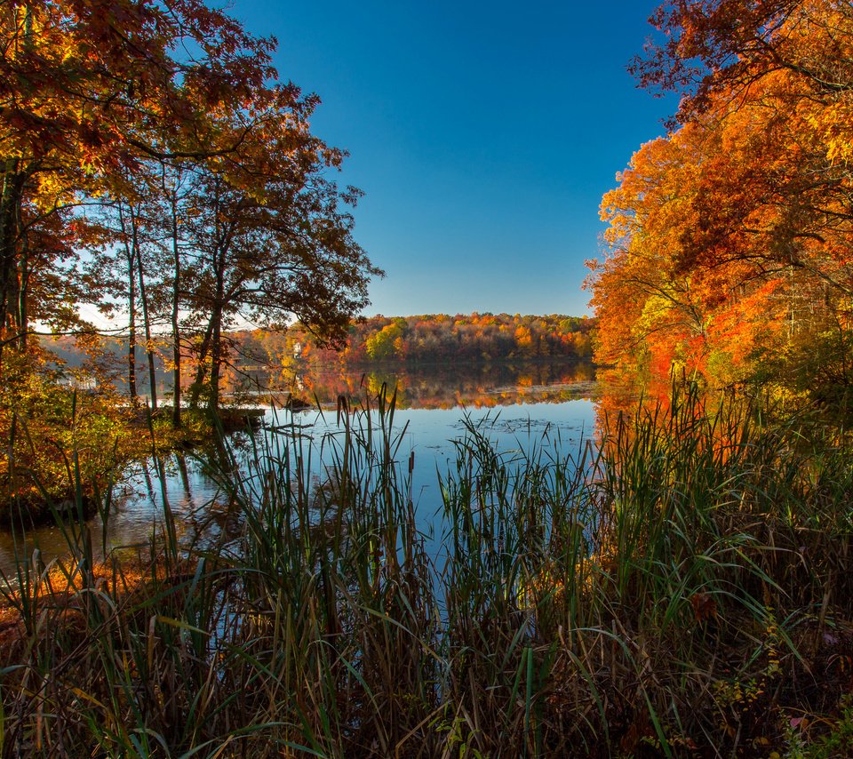
[[[239,108],[273,76],[272,45],[199,0],[0,2],[4,342],[20,344],[34,309],[49,321],[57,316],[37,302],[30,276],[36,250],[49,259],[46,276],[63,260],[36,240],[42,229],[78,235],[83,225],[68,209],[124,182],[146,157],[235,151],[211,129],[208,111]],[[67,247],[86,243],[83,236]],[[78,281],[60,278],[71,286],[58,293],[61,303],[76,300]]]

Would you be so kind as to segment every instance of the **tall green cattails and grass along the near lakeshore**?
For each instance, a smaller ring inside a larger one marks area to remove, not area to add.
[[[223,444],[239,531],[98,565],[69,527],[10,579],[2,755],[853,754],[853,457],[759,411],[675,388],[562,458],[469,426],[439,557],[393,396]]]

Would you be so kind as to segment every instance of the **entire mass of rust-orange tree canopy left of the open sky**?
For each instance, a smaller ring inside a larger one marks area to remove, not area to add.
[[[2,0],[0,45],[0,345],[113,303],[215,386],[238,316],[343,340],[381,272],[274,39],[201,0]]]

